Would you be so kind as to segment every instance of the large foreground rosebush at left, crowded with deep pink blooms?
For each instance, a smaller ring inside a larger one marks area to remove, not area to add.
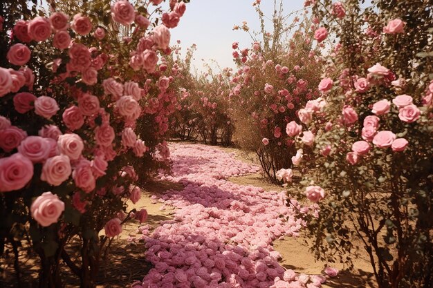
[[[29,235],[40,287],[63,286],[60,260],[94,287],[122,223],[147,218],[127,200],[139,200],[137,185],[169,155],[175,75],[156,71],[185,3],[49,1],[44,15],[16,2],[0,5],[0,251],[12,245],[19,261]]]

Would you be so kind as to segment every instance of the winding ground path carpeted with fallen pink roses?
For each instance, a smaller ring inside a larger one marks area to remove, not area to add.
[[[279,265],[273,240],[296,236],[302,221],[284,204],[284,192],[228,182],[259,167],[234,153],[201,144],[170,144],[172,171],[163,180],[182,191],[154,199],[176,207],[174,220],[149,234],[140,227],[145,256],[154,268],[138,287],[320,287],[322,276],[307,276]],[[280,215],[288,217],[282,220]]]

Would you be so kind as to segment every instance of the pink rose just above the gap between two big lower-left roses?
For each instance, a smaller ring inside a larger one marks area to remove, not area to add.
[[[40,136],[28,136],[21,141],[18,152],[27,157],[33,163],[44,162],[50,154],[50,146],[45,138]]]

